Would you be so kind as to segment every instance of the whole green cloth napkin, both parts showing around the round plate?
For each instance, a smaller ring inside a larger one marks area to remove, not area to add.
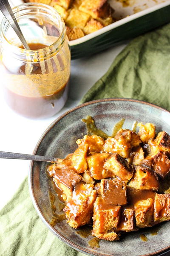
[[[139,36],[116,57],[81,102],[109,97],[142,99],[170,110],[170,24]],[[42,223],[23,181],[0,211],[0,256],[85,256]]]

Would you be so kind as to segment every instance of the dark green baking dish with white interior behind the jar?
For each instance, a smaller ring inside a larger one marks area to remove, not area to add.
[[[115,9],[115,17],[124,18],[82,38],[70,41],[72,59],[100,52],[120,41],[134,38],[170,22],[170,0],[111,0],[110,2]],[[133,6],[123,7],[120,2],[132,3]],[[134,13],[135,10],[142,11]],[[130,16],[126,17],[127,15]]]

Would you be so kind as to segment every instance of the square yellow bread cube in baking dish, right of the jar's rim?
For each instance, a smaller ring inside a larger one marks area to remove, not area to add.
[[[75,27],[83,29],[90,19],[90,15],[81,12],[77,9],[71,9],[71,12],[66,20],[66,26],[73,29]]]

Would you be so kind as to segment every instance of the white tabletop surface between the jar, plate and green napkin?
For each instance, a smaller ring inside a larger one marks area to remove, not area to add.
[[[82,96],[108,70],[125,45],[126,43],[123,43],[89,58],[71,61],[68,101],[57,115],[49,119],[30,120],[14,113],[4,102],[2,88],[0,88],[0,151],[32,154],[37,141],[48,125],[79,103]],[[28,160],[0,159],[0,208],[17,191],[20,183],[28,175],[28,169]]]

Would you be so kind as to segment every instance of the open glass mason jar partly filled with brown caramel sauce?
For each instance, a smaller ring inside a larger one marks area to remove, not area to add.
[[[31,50],[4,18],[0,31],[0,74],[7,104],[38,119],[53,116],[68,97],[70,49],[65,23],[51,6],[25,3],[13,12]]]

